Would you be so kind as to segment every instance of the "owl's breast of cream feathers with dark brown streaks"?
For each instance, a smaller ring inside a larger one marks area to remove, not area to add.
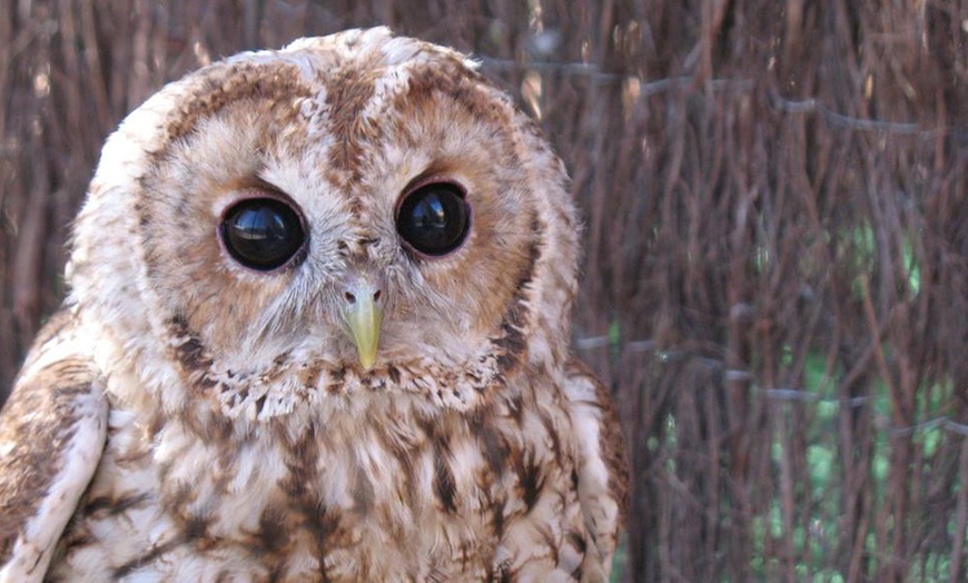
[[[51,573],[483,580],[530,544],[525,531],[562,573],[577,567],[586,533],[564,412],[514,398],[468,419],[397,401],[245,435],[217,416],[115,411]]]

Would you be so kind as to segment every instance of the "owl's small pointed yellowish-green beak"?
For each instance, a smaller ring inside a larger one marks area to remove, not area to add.
[[[376,363],[386,300],[383,287],[378,278],[368,275],[354,276],[344,286],[343,319],[356,344],[364,370],[369,370]]]

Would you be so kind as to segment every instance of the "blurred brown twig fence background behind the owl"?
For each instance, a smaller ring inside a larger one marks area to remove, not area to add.
[[[968,0],[0,0],[0,391],[126,112],[373,24],[473,53],[571,169],[616,580],[965,580]]]

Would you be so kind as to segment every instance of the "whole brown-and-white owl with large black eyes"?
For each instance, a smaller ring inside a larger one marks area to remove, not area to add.
[[[384,28],[107,141],[0,416],[2,581],[606,581],[628,470],[570,354],[562,162]]]

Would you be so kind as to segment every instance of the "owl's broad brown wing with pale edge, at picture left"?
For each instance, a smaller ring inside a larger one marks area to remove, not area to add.
[[[0,412],[0,581],[43,579],[101,457],[108,404],[85,348],[62,308]]]

